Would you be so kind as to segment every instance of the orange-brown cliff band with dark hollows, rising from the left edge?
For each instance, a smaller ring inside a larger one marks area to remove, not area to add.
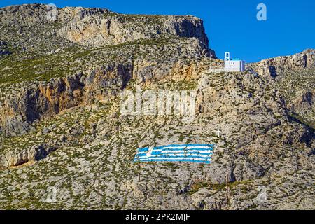
[[[8,136],[26,134],[35,120],[50,118],[92,99],[109,100],[130,78],[130,70],[118,64],[96,69],[87,76],[78,73],[41,83],[4,101],[0,107],[1,131]]]

